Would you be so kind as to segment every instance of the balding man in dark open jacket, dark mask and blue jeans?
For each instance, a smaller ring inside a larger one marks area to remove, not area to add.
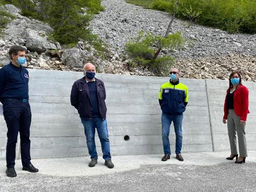
[[[83,68],[84,77],[74,82],[70,101],[77,109],[86,134],[87,147],[91,156],[90,167],[97,164],[98,155],[95,145],[95,128],[101,143],[105,165],[113,168],[111,161],[108,126],[106,123],[106,92],[104,83],[95,78],[95,66],[86,63]]]

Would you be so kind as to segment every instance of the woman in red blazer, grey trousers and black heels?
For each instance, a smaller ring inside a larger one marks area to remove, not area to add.
[[[229,88],[224,103],[223,123],[227,123],[228,137],[231,155],[226,159],[232,160],[236,157],[235,163],[245,163],[247,157],[247,146],[245,138],[245,121],[249,113],[249,91],[242,85],[241,75],[234,71],[229,76]],[[237,151],[237,135],[239,154]]]

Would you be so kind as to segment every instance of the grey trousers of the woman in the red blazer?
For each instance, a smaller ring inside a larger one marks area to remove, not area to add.
[[[237,155],[237,134],[239,155],[247,157],[247,146],[245,138],[245,124],[240,124],[240,117],[234,113],[234,110],[228,110],[227,131],[232,155]],[[237,134],[236,134],[237,133]]]

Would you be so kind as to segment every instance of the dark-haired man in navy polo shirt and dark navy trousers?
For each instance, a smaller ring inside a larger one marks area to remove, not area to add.
[[[38,172],[30,160],[30,124],[29,73],[22,65],[26,63],[26,49],[12,46],[9,50],[11,62],[0,69],[0,102],[7,125],[6,175],[16,177],[14,169],[18,132],[20,135],[20,153],[23,170]]]

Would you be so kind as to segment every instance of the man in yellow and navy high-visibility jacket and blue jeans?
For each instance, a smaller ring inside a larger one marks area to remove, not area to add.
[[[179,70],[174,68],[170,71],[170,80],[161,86],[159,92],[159,104],[162,110],[162,140],[164,156],[162,161],[170,159],[169,132],[170,124],[174,123],[176,134],[176,158],[183,161],[182,148],[182,119],[183,112],[188,103],[188,89],[179,81]]]

